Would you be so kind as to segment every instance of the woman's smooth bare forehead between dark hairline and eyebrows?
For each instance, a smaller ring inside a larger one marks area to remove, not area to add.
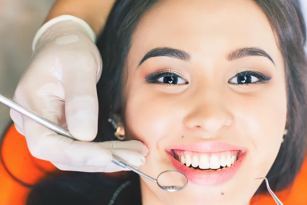
[[[249,0],[159,1],[141,18],[130,51],[142,58],[156,47],[186,50],[192,58],[259,47],[281,59],[266,15]]]

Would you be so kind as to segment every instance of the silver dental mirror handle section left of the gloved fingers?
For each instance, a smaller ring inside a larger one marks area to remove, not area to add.
[[[67,130],[65,130],[64,128],[54,124],[52,121],[45,119],[39,115],[37,115],[36,113],[28,110],[27,108],[15,103],[13,100],[3,96],[2,94],[0,94],[0,103],[3,103],[4,105],[12,108],[13,110],[19,112],[20,114],[23,114],[27,117],[29,117],[30,119],[36,121],[38,124],[45,126],[46,128],[49,128],[50,130],[53,130],[54,132],[66,136],[66,137],[70,137],[70,138],[74,138]]]

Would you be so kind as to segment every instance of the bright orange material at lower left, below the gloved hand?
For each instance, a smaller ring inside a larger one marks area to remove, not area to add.
[[[11,126],[3,136],[2,159],[19,180],[33,184],[45,175],[45,171],[55,171],[52,163],[33,157],[27,147],[26,139]],[[21,186],[5,171],[0,163],[0,204],[24,205],[30,189]]]

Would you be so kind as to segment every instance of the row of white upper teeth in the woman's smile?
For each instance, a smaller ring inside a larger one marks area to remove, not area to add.
[[[180,162],[187,167],[199,167],[200,169],[219,169],[220,167],[230,167],[237,160],[237,152],[228,151],[218,154],[214,153],[192,153],[175,151]]]

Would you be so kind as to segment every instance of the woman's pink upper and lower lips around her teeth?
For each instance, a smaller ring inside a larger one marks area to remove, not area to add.
[[[187,177],[189,182],[195,183],[201,186],[218,186],[223,183],[229,181],[239,170],[242,162],[246,157],[246,149],[238,148],[233,145],[229,145],[222,142],[199,142],[197,144],[192,145],[181,145],[181,146],[173,146],[167,149],[168,156],[175,167],[176,170],[183,172]],[[220,147],[221,146],[221,147]],[[186,151],[194,151],[194,152],[204,152],[204,153],[212,153],[212,152],[223,152],[230,150],[239,150],[237,161],[229,168],[218,171],[204,171],[204,170],[194,170],[191,168],[182,165],[178,160],[176,160],[173,156],[172,149],[180,149]]]

